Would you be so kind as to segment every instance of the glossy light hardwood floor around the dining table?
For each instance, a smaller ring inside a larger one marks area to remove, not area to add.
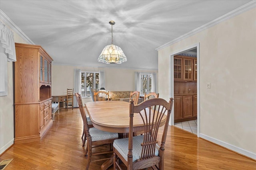
[[[14,144],[0,156],[0,161],[14,158],[5,170],[83,170],[87,157],[82,147],[82,126],[78,108],[62,110],[55,114],[52,127],[40,142]],[[97,151],[104,149],[108,146]],[[94,156],[97,158],[102,157]],[[91,162],[90,170],[99,170],[103,162]],[[110,166],[109,170],[112,169]],[[256,170],[256,161],[169,126],[164,169]]]

